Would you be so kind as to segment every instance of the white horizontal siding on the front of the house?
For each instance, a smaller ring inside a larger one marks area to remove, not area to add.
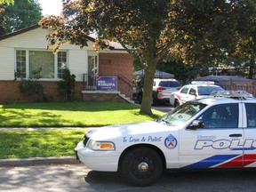
[[[13,80],[15,68],[15,50],[46,50],[47,30],[36,28],[20,35],[11,36],[0,41],[0,80]],[[88,47],[65,44],[61,50],[68,51],[68,68],[71,74],[76,75],[76,81],[83,80],[87,72],[87,52],[92,51],[92,42]]]

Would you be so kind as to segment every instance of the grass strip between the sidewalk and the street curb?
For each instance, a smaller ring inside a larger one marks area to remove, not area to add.
[[[73,149],[86,130],[0,132],[0,159],[75,156]]]

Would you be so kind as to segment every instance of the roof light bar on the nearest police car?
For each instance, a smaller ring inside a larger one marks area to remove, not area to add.
[[[225,98],[236,98],[236,99],[246,99],[252,98],[252,94],[246,91],[214,91],[211,92],[214,97],[225,97]]]

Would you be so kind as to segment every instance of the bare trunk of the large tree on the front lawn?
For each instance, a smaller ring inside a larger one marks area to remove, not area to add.
[[[146,68],[144,85],[143,85],[143,95],[142,102],[140,106],[140,114],[152,115],[151,104],[152,104],[152,90],[154,76],[156,73],[157,59],[147,60],[148,67]]]

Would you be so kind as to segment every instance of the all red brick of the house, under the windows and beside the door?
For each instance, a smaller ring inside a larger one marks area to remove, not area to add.
[[[100,53],[100,76],[124,76],[132,83],[132,56],[127,53]],[[40,82],[44,85],[44,95],[54,100],[65,100],[58,96],[58,82]],[[33,102],[36,100],[25,98],[19,89],[20,81],[0,81],[0,103]],[[118,91],[132,99],[132,88],[118,79]],[[83,82],[76,82],[75,97],[83,99],[81,91],[84,90]],[[105,97],[106,100],[107,96]]]

